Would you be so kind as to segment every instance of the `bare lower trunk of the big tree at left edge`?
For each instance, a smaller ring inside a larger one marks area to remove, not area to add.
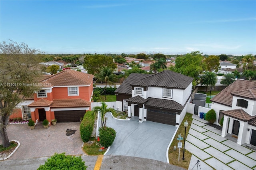
[[[7,148],[11,145],[6,132],[6,125],[8,124],[8,119],[9,119],[9,116],[1,117],[0,119],[0,135],[1,135],[0,137],[1,137],[2,145],[4,146],[4,148]]]

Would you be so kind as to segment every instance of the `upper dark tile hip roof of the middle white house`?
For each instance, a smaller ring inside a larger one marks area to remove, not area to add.
[[[186,89],[193,81],[192,77],[182,75],[170,70],[164,70],[160,73],[153,74],[140,81],[131,83],[132,86],[154,86],[170,87],[175,89]]]

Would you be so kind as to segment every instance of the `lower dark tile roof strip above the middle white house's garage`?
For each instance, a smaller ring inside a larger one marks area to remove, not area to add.
[[[171,109],[176,111],[182,111],[183,106],[173,100],[166,100],[166,99],[156,99],[149,97],[148,101],[145,103],[146,107],[156,107],[156,108],[163,108],[163,109]]]

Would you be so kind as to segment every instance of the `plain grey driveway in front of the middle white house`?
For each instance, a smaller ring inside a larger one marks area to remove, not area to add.
[[[175,126],[138,120],[117,120],[106,113],[106,126],[116,130],[116,138],[106,155],[124,155],[167,162],[166,150]],[[136,118],[136,117],[135,117]]]

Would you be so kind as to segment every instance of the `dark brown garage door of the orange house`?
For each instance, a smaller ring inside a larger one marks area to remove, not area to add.
[[[78,111],[54,111],[55,119],[58,122],[79,122],[84,117],[86,110]]]

